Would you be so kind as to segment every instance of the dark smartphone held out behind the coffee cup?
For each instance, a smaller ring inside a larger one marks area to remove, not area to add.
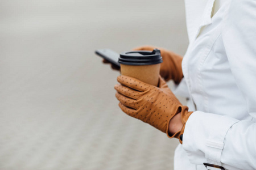
[[[111,49],[98,49],[95,53],[113,63],[115,66],[120,67],[120,64],[118,63],[119,54],[117,52],[114,52]]]

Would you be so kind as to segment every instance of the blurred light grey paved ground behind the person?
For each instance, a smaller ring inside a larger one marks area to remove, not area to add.
[[[173,169],[177,139],[122,113],[94,54],[145,44],[184,55],[183,1],[0,1],[0,169]]]

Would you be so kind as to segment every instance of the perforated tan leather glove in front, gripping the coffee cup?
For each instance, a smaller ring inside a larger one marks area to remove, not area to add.
[[[118,76],[117,81],[121,84],[115,85],[115,96],[120,101],[119,107],[123,112],[154,126],[170,138],[178,138],[182,143],[180,136],[183,135],[185,123],[192,112],[188,112],[188,107],[177,100],[160,76],[158,87],[124,75]],[[175,134],[170,134],[169,122],[178,113],[181,113],[183,127]]]

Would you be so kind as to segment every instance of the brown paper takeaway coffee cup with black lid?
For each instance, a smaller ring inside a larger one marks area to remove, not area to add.
[[[118,58],[121,75],[131,76],[142,82],[158,86],[160,63],[163,62],[159,49],[151,51],[122,52]]]

